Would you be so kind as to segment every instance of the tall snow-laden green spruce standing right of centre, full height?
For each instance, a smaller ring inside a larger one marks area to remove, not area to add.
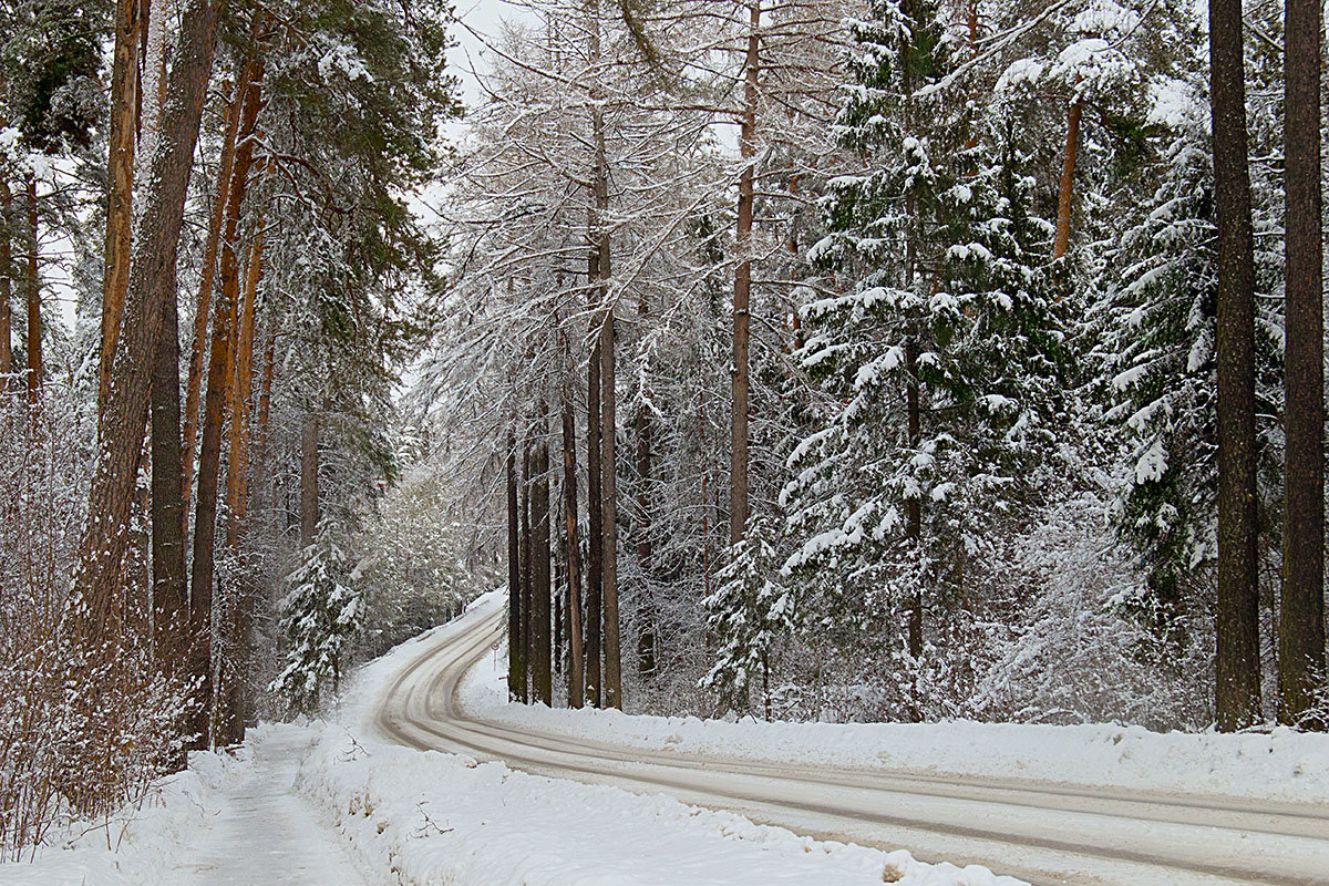
[[[856,27],[840,117],[868,171],[831,179],[828,234],[811,252],[853,283],[803,311],[797,356],[823,424],[796,448],[781,503],[801,539],[789,566],[819,611],[857,614],[890,656],[905,635],[897,664],[916,676],[901,704],[920,717],[924,614],[937,631],[968,620],[956,612],[975,583],[968,562],[1046,485],[1063,336],[1017,117],[998,102],[962,147],[948,105],[910,92],[948,64],[936,12],[877,15]]]

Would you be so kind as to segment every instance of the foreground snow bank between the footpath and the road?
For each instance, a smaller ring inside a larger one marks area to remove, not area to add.
[[[364,870],[411,885],[626,886],[897,882],[1017,886],[983,867],[817,842],[662,794],[513,772],[330,728],[296,788]]]

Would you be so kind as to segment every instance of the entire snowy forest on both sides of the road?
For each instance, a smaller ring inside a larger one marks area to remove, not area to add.
[[[490,12],[0,4],[0,855],[496,587],[536,704],[1325,729],[1320,4]]]

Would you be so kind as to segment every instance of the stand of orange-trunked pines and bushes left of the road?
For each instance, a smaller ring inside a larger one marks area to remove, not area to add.
[[[316,709],[488,569],[445,514],[392,547],[428,487],[393,486],[395,391],[441,292],[408,199],[459,112],[449,16],[0,11],[5,853]]]

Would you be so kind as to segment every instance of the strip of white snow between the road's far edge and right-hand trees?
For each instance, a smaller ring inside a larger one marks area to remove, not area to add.
[[[501,654],[492,656],[462,679],[459,699],[470,716],[603,744],[1172,794],[1313,804],[1329,797],[1329,735],[1285,728],[1247,735],[1158,733],[1110,724],[730,723],[571,711],[509,703],[504,663]]]

